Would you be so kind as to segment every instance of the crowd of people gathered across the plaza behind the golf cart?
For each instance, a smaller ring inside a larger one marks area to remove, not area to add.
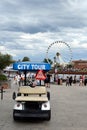
[[[52,75],[50,75],[48,72],[46,73],[46,79],[44,80],[44,85],[48,88],[50,88],[50,83],[51,83],[51,78]],[[21,74],[16,74],[14,77],[14,82],[15,84],[18,84],[19,86],[24,85],[24,80],[25,80],[25,75],[24,73]],[[35,79],[35,74],[28,73],[27,74],[27,80],[28,83],[33,83],[33,86],[39,85],[40,81]],[[54,77],[54,83],[56,82],[58,85],[61,85],[62,83],[65,83],[66,86],[72,86],[74,85],[79,85],[79,86],[86,86],[87,85],[87,76],[86,75],[81,75],[79,78],[77,78],[76,75],[68,75],[66,76],[65,79],[59,78],[58,75]],[[27,84],[31,85],[31,84]]]

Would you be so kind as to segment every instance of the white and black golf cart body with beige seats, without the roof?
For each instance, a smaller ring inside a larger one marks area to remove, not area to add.
[[[50,92],[45,87],[22,86],[18,93],[13,93],[15,105],[13,108],[13,119],[40,118],[51,119]]]

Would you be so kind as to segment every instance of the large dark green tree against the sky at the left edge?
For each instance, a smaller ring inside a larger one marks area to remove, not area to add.
[[[0,71],[3,70],[6,66],[9,66],[14,61],[12,60],[12,56],[9,54],[1,54],[0,53]]]

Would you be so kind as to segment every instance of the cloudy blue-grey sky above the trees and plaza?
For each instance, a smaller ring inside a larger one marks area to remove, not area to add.
[[[87,0],[0,0],[0,52],[87,60]]]

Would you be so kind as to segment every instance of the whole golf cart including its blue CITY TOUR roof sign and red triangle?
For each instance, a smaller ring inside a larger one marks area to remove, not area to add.
[[[20,118],[40,118],[51,119],[50,92],[45,86],[27,86],[26,74],[28,71],[36,71],[36,79],[44,80],[46,71],[50,70],[48,63],[17,62],[13,64],[13,69],[24,71],[24,86],[20,86],[18,92],[13,92],[15,105],[13,108],[13,119]]]

